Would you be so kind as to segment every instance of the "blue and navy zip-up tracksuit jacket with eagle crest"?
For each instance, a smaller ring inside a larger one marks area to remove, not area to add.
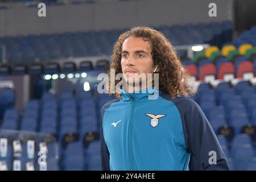
[[[200,106],[162,91],[148,100],[153,94],[121,90],[121,98],[102,107],[102,169],[229,170]],[[210,151],[216,152],[217,164],[209,164]]]

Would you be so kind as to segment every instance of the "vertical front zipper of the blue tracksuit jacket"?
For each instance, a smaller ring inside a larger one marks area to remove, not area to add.
[[[134,153],[133,153],[133,118],[134,118],[134,110],[135,110],[135,100],[133,98],[133,96],[129,96],[129,98],[132,100],[132,105],[131,105],[131,121],[130,121],[130,127],[128,130],[128,135],[129,135],[129,154],[130,154],[130,162],[132,162],[133,164],[132,166],[132,170],[138,170],[137,164],[135,162],[135,158],[134,158]]]

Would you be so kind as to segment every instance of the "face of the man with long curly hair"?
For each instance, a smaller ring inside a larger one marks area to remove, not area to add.
[[[129,37],[125,39],[122,45],[121,67],[127,84],[138,84],[146,81],[144,79],[140,81],[139,77],[133,78],[134,73],[144,73],[147,77],[147,73],[153,72],[154,62],[151,51],[150,43],[142,38]]]

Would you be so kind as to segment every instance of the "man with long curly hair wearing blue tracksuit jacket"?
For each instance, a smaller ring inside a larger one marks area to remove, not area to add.
[[[101,109],[102,169],[229,170],[208,119],[187,97],[193,94],[188,73],[161,32],[134,27],[120,35],[111,69],[125,84],[118,92],[118,80],[109,82],[117,99]],[[144,86],[148,77],[131,77],[141,74],[158,74],[159,84]],[[148,99],[148,89],[158,97]]]

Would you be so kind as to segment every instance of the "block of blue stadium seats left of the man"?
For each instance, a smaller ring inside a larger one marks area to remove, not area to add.
[[[1,130],[37,131],[56,137],[57,145],[61,149],[60,162],[57,167],[59,169],[100,169],[99,150],[92,151],[90,149],[98,148],[99,144],[96,142],[96,144],[89,144],[88,147],[88,143],[90,140],[97,139],[100,108],[111,99],[108,95],[100,95],[97,100],[89,95],[76,99],[72,90],[65,90],[59,99],[52,94],[44,93],[41,100],[27,102],[22,116],[15,107],[7,109]],[[90,147],[91,145],[94,147]],[[80,150],[73,149],[77,147]],[[74,155],[75,153],[77,155]],[[16,159],[1,159],[7,163],[8,168],[11,167],[14,160]],[[35,160],[30,162],[35,162]],[[25,169],[26,163],[27,160],[22,159],[22,169]],[[53,169],[55,168],[53,167]]]

